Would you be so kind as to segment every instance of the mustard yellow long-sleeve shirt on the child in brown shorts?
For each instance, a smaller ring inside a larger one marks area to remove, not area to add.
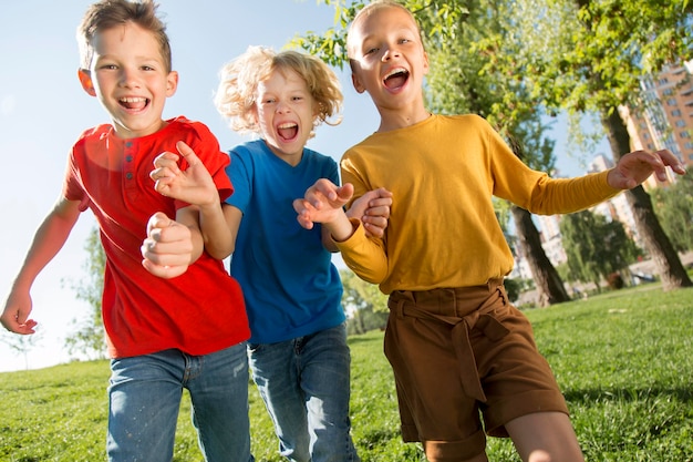
[[[607,172],[552,179],[528,168],[477,115],[432,115],[375,133],[344,154],[341,170],[354,197],[381,186],[393,193],[383,239],[366,238],[359,226],[338,243],[346,265],[385,294],[477,286],[510,273],[513,255],[492,196],[554,215],[619,192]]]

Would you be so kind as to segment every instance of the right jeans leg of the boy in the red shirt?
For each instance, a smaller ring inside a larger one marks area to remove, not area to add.
[[[186,356],[186,366],[184,386],[190,392],[193,424],[205,460],[252,461],[246,343]]]

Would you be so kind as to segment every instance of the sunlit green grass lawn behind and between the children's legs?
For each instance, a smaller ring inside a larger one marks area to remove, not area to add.
[[[527,311],[589,461],[693,461],[693,289],[658,285]],[[424,461],[404,444],[382,332],[350,338],[353,437],[364,462]],[[105,361],[0,373],[0,461],[102,461]],[[279,462],[263,404],[250,387],[252,451]],[[519,461],[508,440],[489,459]],[[200,461],[184,399],[175,461]]]

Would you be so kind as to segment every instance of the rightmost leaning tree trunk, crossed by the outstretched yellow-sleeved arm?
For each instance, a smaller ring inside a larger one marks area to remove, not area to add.
[[[628,153],[631,150],[630,136],[618,111],[614,110],[611,114],[602,113],[601,120],[611,145],[613,160],[618,162],[621,158],[621,153]],[[691,287],[693,284],[681,263],[681,258],[679,258],[679,254],[676,254],[669,236],[654,215],[650,195],[642,185],[627,191],[624,194],[633,213],[638,234],[662,279],[662,288],[671,290]]]

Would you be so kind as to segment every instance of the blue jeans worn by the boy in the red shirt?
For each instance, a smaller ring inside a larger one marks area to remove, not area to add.
[[[208,462],[252,462],[246,343],[205,356],[170,349],[111,361],[112,462],[170,462],[183,389]]]

